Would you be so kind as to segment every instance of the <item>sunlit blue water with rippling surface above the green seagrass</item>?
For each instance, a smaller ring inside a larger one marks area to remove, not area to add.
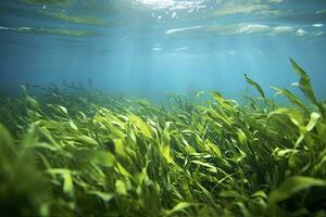
[[[150,99],[237,97],[247,73],[272,95],[298,81],[291,56],[326,99],[325,25],[325,0],[1,0],[0,89],[90,78]]]

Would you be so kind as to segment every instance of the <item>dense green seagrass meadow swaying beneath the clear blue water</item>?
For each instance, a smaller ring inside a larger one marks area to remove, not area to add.
[[[326,106],[218,92],[165,106],[48,88],[0,107],[5,216],[325,216]],[[3,205],[4,204],[4,205]]]

